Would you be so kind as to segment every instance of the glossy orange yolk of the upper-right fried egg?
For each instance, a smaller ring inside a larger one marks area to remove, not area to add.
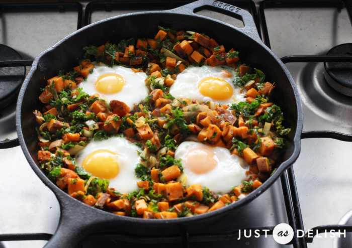
[[[226,100],[233,95],[231,85],[224,79],[217,77],[203,78],[199,85],[198,90],[204,96],[209,96],[214,100]]]

